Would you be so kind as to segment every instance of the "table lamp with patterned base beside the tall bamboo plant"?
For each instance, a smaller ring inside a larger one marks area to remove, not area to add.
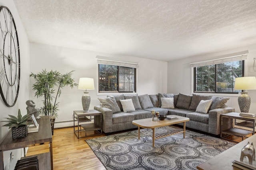
[[[85,90],[82,96],[82,105],[84,111],[88,111],[90,107],[91,97],[87,90],[94,90],[94,80],[93,78],[79,78],[78,89]]]

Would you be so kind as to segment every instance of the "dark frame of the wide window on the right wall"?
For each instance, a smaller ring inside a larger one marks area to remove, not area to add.
[[[246,59],[244,59],[244,60],[234,60],[234,61],[242,61],[242,77],[244,77],[245,76],[245,70],[246,70],[246,68],[245,68],[245,66],[246,66]],[[223,62],[223,63],[228,63],[228,61],[226,61],[226,62]],[[223,63],[218,63],[218,64],[223,64]],[[217,69],[217,64],[208,64],[208,65],[205,65],[205,66],[209,66],[209,65],[215,65],[215,90],[214,90],[214,92],[213,91],[211,91],[211,92],[199,92],[199,91],[196,91],[196,67],[199,67],[199,66],[195,66],[195,67],[192,67],[192,71],[193,71],[193,78],[192,78],[192,85],[193,85],[193,87],[192,87],[192,92],[193,93],[198,93],[198,94],[238,94],[239,92],[217,92],[217,86],[216,86],[216,84],[217,84],[217,76],[218,76],[218,74],[216,74],[217,72],[216,72],[216,69]],[[244,90],[242,90],[242,92],[243,92]]]

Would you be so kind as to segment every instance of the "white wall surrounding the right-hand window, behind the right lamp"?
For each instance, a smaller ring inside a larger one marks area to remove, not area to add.
[[[256,72],[253,70],[253,58],[256,57],[256,44],[248,45],[246,47],[240,47],[236,49],[230,49],[226,51],[220,51],[216,53],[210,53],[207,55],[200,55],[195,57],[188,57],[176,61],[168,62],[168,92],[175,94],[185,93],[192,94],[192,70],[190,63],[204,61],[209,59],[220,58],[223,55],[232,53],[238,53],[240,51],[248,50],[247,61],[245,62],[245,76],[256,76]],[[256,64],[255,64],[256,66]],[[256,70],[256,68],[255,68]],[[213,94],[214,95],[214,94]],[[216,94],[215,94],[216,95]],[[235,108],[235,111],[240,112],[238,106],[238,96],[240,94],[220,94],[221,96],[228,96],[228,106]],[[256,113],[256,90],[248,90],[248,95],[251,97],[250,113]]]

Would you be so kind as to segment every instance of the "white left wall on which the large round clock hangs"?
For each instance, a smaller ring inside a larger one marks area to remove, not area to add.
[[[22,115],[26,114],[26,100],[29,99],[29,77],[28,74],[30,72],[30,51],[29,51],[29,42],[22,22],[20,20],[20,16],[16,10],[14,2],[12,0],[0,0],[0,6],[6,6],[11,11],[14,21],[16,23],[16,28],[18,31],[18,39],[20,45],[20,91],[18,94],[18,100],[13,107],[7,107],[2,98],[0,99],[0,121],[4,121],[4,117],[8,117],[8,115],[18,115],[18,109],[21,110]],[[2,62],[2,61],[0,61]],[[11,133],[8,127],[2,127],[4,122],[0,122],[0,142],[4,140],[4,136],[7,133]],[[10,152],[14,154],[14,159],[12,160],[12,164],[8,167],[8,158],[10,157]],[[1,155],[0,155],[1,156]],[[14,169],[18,158],[23,156],[23,149],[16,149],[11,151],[4,151],[4,169]]]

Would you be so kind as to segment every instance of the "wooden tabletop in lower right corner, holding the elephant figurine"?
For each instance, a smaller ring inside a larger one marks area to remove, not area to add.
[[[240,160],[242,148],[248,143],[256,143],[256,134],[198,165],[199,170],[241,170],[232,166],[234,160]]]

